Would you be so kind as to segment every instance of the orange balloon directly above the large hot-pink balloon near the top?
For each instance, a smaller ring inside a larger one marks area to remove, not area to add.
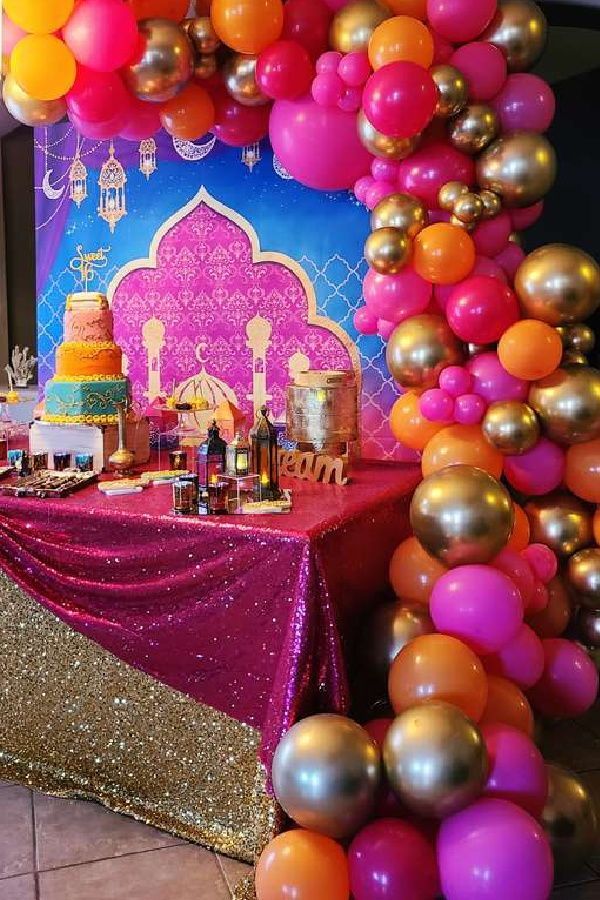
[[[374,69],[391,62],[414,62],[428,69],[433,62],[431,32],[411,16],[394,16],[378,25],[369,41],[369,59]]]

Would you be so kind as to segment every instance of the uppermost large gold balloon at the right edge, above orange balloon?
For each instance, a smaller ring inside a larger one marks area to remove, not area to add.
[[[568,244],[547,244],[527,256],[515,276],[525,315],[548,325],[587,319],[600,306],[600,266]]]

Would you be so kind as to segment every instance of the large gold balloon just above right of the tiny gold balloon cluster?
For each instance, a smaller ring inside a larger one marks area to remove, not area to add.
[[[477,160],[479,187],[494,191],[506,206],[532,206],[555,178],[556,154],[543,134],[534,131],[502,135]]]

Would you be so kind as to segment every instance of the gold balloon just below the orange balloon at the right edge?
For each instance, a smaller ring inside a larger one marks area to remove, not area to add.
[[[546,544],[558,556],[568,557],[594,541],[590,508],[571,494],[535,497],[525,506],[531,542]]]

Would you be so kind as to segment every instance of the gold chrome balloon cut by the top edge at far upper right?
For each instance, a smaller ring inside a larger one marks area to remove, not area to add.
[[[546,17],[532,0],[500,0],[498,11],[479,38],[500,47],[511,72],[525,72],[546,46]]]

